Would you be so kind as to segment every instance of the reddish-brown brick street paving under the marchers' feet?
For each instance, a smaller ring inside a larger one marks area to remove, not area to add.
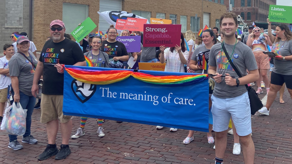
[[[260,94],[262,99],[264,94]],[[255,164],[291,164],[292,163],[292,101],[288,91],[284,93],[284,104],[279,103],[279,94],[274,101],[270,116],[252,116],[253,141],[255,144]],[[86,134],[78,139],[70,139],[72,153],[64,160],[57,161],[54,156],[38,161],[48,141],[46,125],[41,124],[40,110],[32,115],[32,135],[39,141],[37,144],[22,143],[24,149],[8,148],[8,135],[0,131],[0,164],[213,164],[215,158],[214,144],[208,144],[206,133],[195,132],[194,141],[183,144],[188,131],[179,129],[170,132],[169,128],[156,130],[155,126],[105,120],[105,136],[97,135],[97,119],[88,119]],[[80,125],[80,117],[73,117],[72,135]],[[183,120],[182,120],[183,121]],[[213,132],[213,136],[215,133]],[[57,135],[57,146],[60,148],[61,132]],[[227,135],[227,149],[224,164],[244,164],[243,155],[233,155],[233,136]],[[241,147],[242,151],[242,147]]]

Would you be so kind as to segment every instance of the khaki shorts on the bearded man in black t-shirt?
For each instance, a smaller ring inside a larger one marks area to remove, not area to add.
[[[63,115],[63,95],[41,94],[41,123],[58,119],[66,123],[71,117]]]

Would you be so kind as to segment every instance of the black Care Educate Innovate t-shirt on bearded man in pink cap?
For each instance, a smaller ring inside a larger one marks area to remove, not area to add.
[[[74,65],[85,61],[84,54],[77,43],[65,38],[59,43],[48,40],[39,61],[44,63],[42,93],[47,95],[63,95],[64,73],[58,73],[54,64]]]

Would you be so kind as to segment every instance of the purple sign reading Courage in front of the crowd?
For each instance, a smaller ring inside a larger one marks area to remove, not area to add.
[[[141,51],[141,36],[119,36],[117,41],[124,43],[127,52],[140,52]]]

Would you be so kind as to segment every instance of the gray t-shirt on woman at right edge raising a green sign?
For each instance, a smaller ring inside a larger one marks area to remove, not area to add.
[[[286,42],[280,40],[280,42],[274,43],[271,52],[277,52],[283,57],[292,55],[292,40],[286,40]],[[292,61],[274,59],[273,72],[281,75],[292,75]]]

